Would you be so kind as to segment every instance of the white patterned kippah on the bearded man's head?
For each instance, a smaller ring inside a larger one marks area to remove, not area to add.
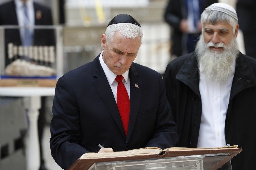
[[[228,4],[218,2],[218,3],[214,3],[210,6],[208,6],[205,9],[206,10],[214,10],[214,11],[224,12],[224,13],[230,15],[231,17],[235,18],[238,21],[235,9],[232,6],[228,5]]]

